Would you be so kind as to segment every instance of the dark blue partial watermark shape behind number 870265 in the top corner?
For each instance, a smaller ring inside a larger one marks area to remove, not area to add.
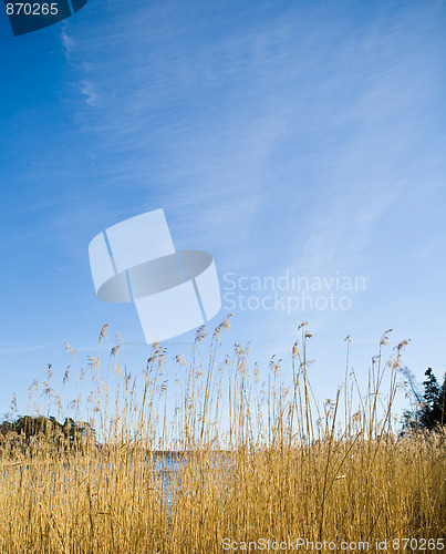
[[[83,8],[87,0],[3,0],[14,37],[59,23]]]

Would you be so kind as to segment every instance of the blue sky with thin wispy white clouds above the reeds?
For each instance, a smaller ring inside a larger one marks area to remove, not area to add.
[[[81,365],[104,324],[143,341],[134,307],[95,297],[87,246],[159,207],[222,286],[365,279],[345,310],[231,309],[224,347],[250,341],[265,372],[308,320],[321,399],[349,334],[360,373],[392,327],[418,378],[442,375],[445,23],[443,1],[90,0],[13,38],[2,13],[0,413],[46,363],[62,379],[64,340]],[[148,351],[128,346],[135,371]]]

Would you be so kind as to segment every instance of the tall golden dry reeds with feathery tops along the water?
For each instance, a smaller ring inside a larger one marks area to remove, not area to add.
[[[361,392],[348,360],[343,387],[319,404],[308,377],[305,324],[288,387],[274,358],[262,386],[262,372],[250,368],[239,345],[218,365],[228,327],[226,319],[208,347],[199,329],[190,360],[177,356],[174,367],[154,345],[141,384],[117,347],[100,369],[104,327],[97,357],[79,378],[92,377],[86,417],[82,398],[70,404],[96,439],[85,434],[73,447],[54,428],[31,442],[13,434],[1,442],[0,552],[212,553],[262,550],[267,541],[284,551],[297,540],[310,542],[301,551],[315,552],[343,542],[377,552],[383,541],[386,552],[418,552],[431,540],[425,550],[439,552],[446,433],[394,430],[406,342],[383,363],[387,331],[367,389]],[[63,409],[64,393],[52,389],[51,378],[49,370],[46,413]],[[70,379],[81,397],[76,377],[66,373],[65,386]]]

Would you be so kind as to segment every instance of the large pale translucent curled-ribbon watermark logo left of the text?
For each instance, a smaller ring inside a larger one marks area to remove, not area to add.
[[[134,302],[147,345],[195,329],[221,308],[212,256],[176,252],[163,209],[125,219],[89,246],[96,295]]]

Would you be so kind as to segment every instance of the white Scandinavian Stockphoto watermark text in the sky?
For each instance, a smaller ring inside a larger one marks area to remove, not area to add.
[[[292,270],[276,276],[222,276],[225,310],[349,310],[356,291],[365,290],[365,277],[302,276]]]

